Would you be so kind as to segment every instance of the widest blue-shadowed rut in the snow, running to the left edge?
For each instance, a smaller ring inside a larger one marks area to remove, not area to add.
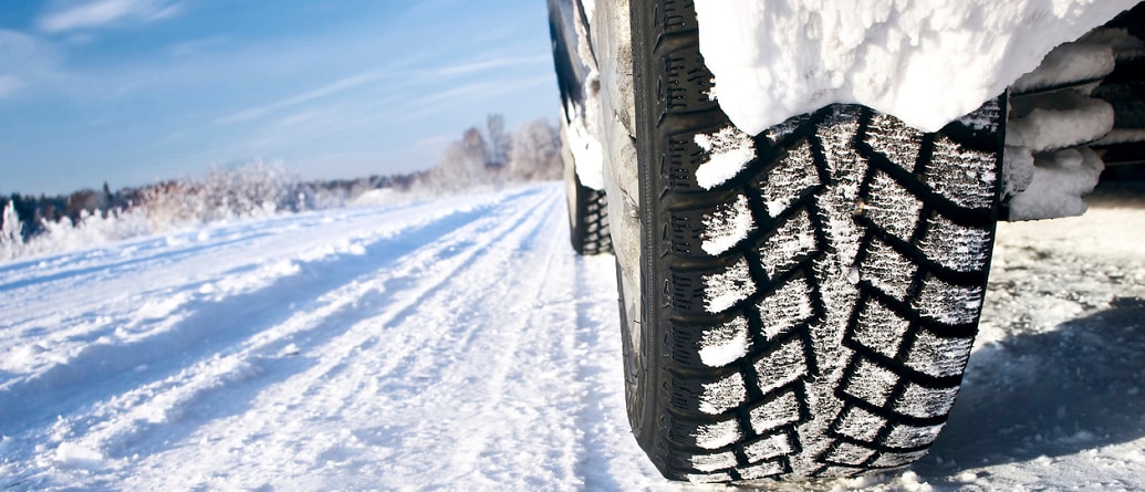
[[[135,383],[137,378],[133,373],[137,368],[143,367],[151,378],[161,381],[183,367],[195,367],[194,363],[204,358],[202,355],[210,358],[245,335],[282,323],[289,316],[287,309],[282,309],[284,305],[305,303],[315,297],[315,292],[334,289],[363,272],[385,268],[411,245],[427,243],[441,230],[488,221],[485,214],[493,205],[453,209],[423,223],[402,224],[405,227],[361,245],[361,254],[292,261],[290,264],[295,265],[297,271],[290,268],[279,271],[277,273],[282,275],[270,276],[268,285],[253,292],[221,300],[184,295],[182,302],[159,312],[167,319],[160,322],[150,336],[127,343],[95,341],[44,371],[14,378],[0,386],[0,435],[11,435],[25,424],[50,419],[53,415],[40,411],[44,406],[52,405],[61,413],[69,413],[85,402],[126,391]],[[188,350],[190,354],[184,355]],[[172,355],[180,357],[172,359]],[[117,383],[116,376],[120,374],[127,376],[119,378],[121,381]],[[92,384],[96,381],[97,384]]]

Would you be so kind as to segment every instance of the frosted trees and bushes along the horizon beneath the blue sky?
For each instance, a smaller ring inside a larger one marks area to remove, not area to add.
[[[93,217],[143,213],[155,231],[180,223],[341,207],[371,191],[389,192],[400,200],[559,180],[560,145],[559,129],[548,120],[527,122],[514,133],[505,128],[503,116],[490,114],[483,128],[471,127],[450,144],[434,167],[414,173],[301,181],[281,164],[255,160],[214,168],[200,178],[114,191],[104,183],[100,190],[58,196],[13,193],[0,197],[0,244],[26,241],[58,224],[80,227]]]

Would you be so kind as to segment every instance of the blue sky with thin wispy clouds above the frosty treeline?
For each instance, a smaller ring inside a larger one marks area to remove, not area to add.
[[[0,193],[428,168],[556,120],[543,0],[0,0]]]

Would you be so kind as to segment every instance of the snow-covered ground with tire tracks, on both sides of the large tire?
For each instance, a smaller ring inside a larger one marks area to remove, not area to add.
[[[562,190],[0,264],[0,490],[722,490],[629,435],[613,259],[574,255]],[[1002,224],[932,454],[819,485],[1145,489],[1142,231]]]

